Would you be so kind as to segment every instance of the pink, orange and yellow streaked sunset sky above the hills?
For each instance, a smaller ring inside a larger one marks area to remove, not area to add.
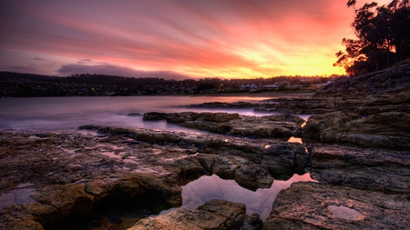
[[[176,80],[343,75],[333,63],[343,37],[354,37],[346,3],[0,1],[0,71]]]

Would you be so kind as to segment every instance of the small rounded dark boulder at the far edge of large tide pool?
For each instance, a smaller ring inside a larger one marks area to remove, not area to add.
[[[260,165],[245,165],[236,170],[235,181],[238,185],[251,189],[270,188],[273,178],[268,170]]]

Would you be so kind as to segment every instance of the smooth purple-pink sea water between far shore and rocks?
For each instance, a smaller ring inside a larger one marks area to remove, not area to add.
[[[272,97],[251,96],[118,96],[0,98],[0,132],[72,132],[80,125],[115,125],[188,130],[165,121],[143,122],[147,112],[213,111],[254,114],[252,109],[184,108],[205,102],[252,102]],[[129,115],[139,114],[139,115]]]

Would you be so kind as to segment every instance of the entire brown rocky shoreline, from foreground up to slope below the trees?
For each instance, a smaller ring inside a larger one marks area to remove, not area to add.
[[[410,229],[409,95],[407,64],[311,97],[230,105],[281,115],[144,115],[209,134],[101,125],[1,133],[0,229]],[[306,123],[287,114],[308,112]],[[202,175],[254,191],[305,172],[316,182],[282,190],[265,222],[216,199],[157,215],[181,205],[181,185]],[[138,215],[118,215],[129,210]]]

